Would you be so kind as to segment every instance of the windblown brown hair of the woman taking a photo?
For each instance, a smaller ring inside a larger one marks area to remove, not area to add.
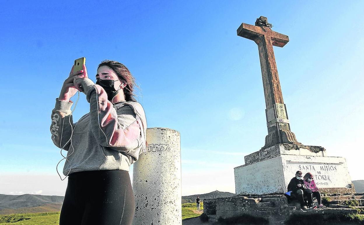
[[[134,87],[137,87],[139,90],[141,89],[135,83],[134,76],[130,73],[129,69],[124,64],[117,61],[104,60],[99,64],[97,69],[99,69],[101,66],[107,66],[112,69],[119,77],[120,81],[126,84],[125,88],[123,89],[126,101],[137,101],[134,98],[137,97],[137,95],[134,94]]]

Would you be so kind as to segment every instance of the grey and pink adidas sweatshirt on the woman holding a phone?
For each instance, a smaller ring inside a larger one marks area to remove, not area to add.
[[[57,98],[52,110],[53,143],[68,151],[63,174],[94,170],[129,171],[130,165],[146,150],[147,121],[142,105],[135,101],[112,105],[105,90],[88,78],[81,82],[81,86],[90,102],[90,112],[77,123],[72,121],[71,100]]]

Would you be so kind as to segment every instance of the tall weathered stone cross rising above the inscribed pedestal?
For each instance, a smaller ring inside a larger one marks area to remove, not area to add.
[[[268,19],[261,16],[255,22],[255,26],[242,23],[237,30],[238,36],[253,40],[258,45],[268,127],[268,135],[265,137],[263,148],[279,143],[301,144],[290,131],[273,53],[273,45],[283,47],[289,39],[284,34],[272,31],[271,27],[272,24],[268,23]]]

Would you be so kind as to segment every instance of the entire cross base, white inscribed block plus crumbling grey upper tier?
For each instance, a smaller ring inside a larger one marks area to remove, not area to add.
[[[317,187],[325,193],[355,193],[347,162],[329,157],[319,146],[276,144],[245,156],[234,168],[236,194],[282,194],[296,171],[311,172]]]

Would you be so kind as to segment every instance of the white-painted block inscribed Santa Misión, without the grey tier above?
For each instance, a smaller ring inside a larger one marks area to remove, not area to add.
[[[290,179],[295,176],[297,170],[302,171],[302,176],[306,172],[311,172],[319,189],[345,189],[352,183],[345,158],[282,154],[235,167],[236,193],[256,195],[285,193]]]

